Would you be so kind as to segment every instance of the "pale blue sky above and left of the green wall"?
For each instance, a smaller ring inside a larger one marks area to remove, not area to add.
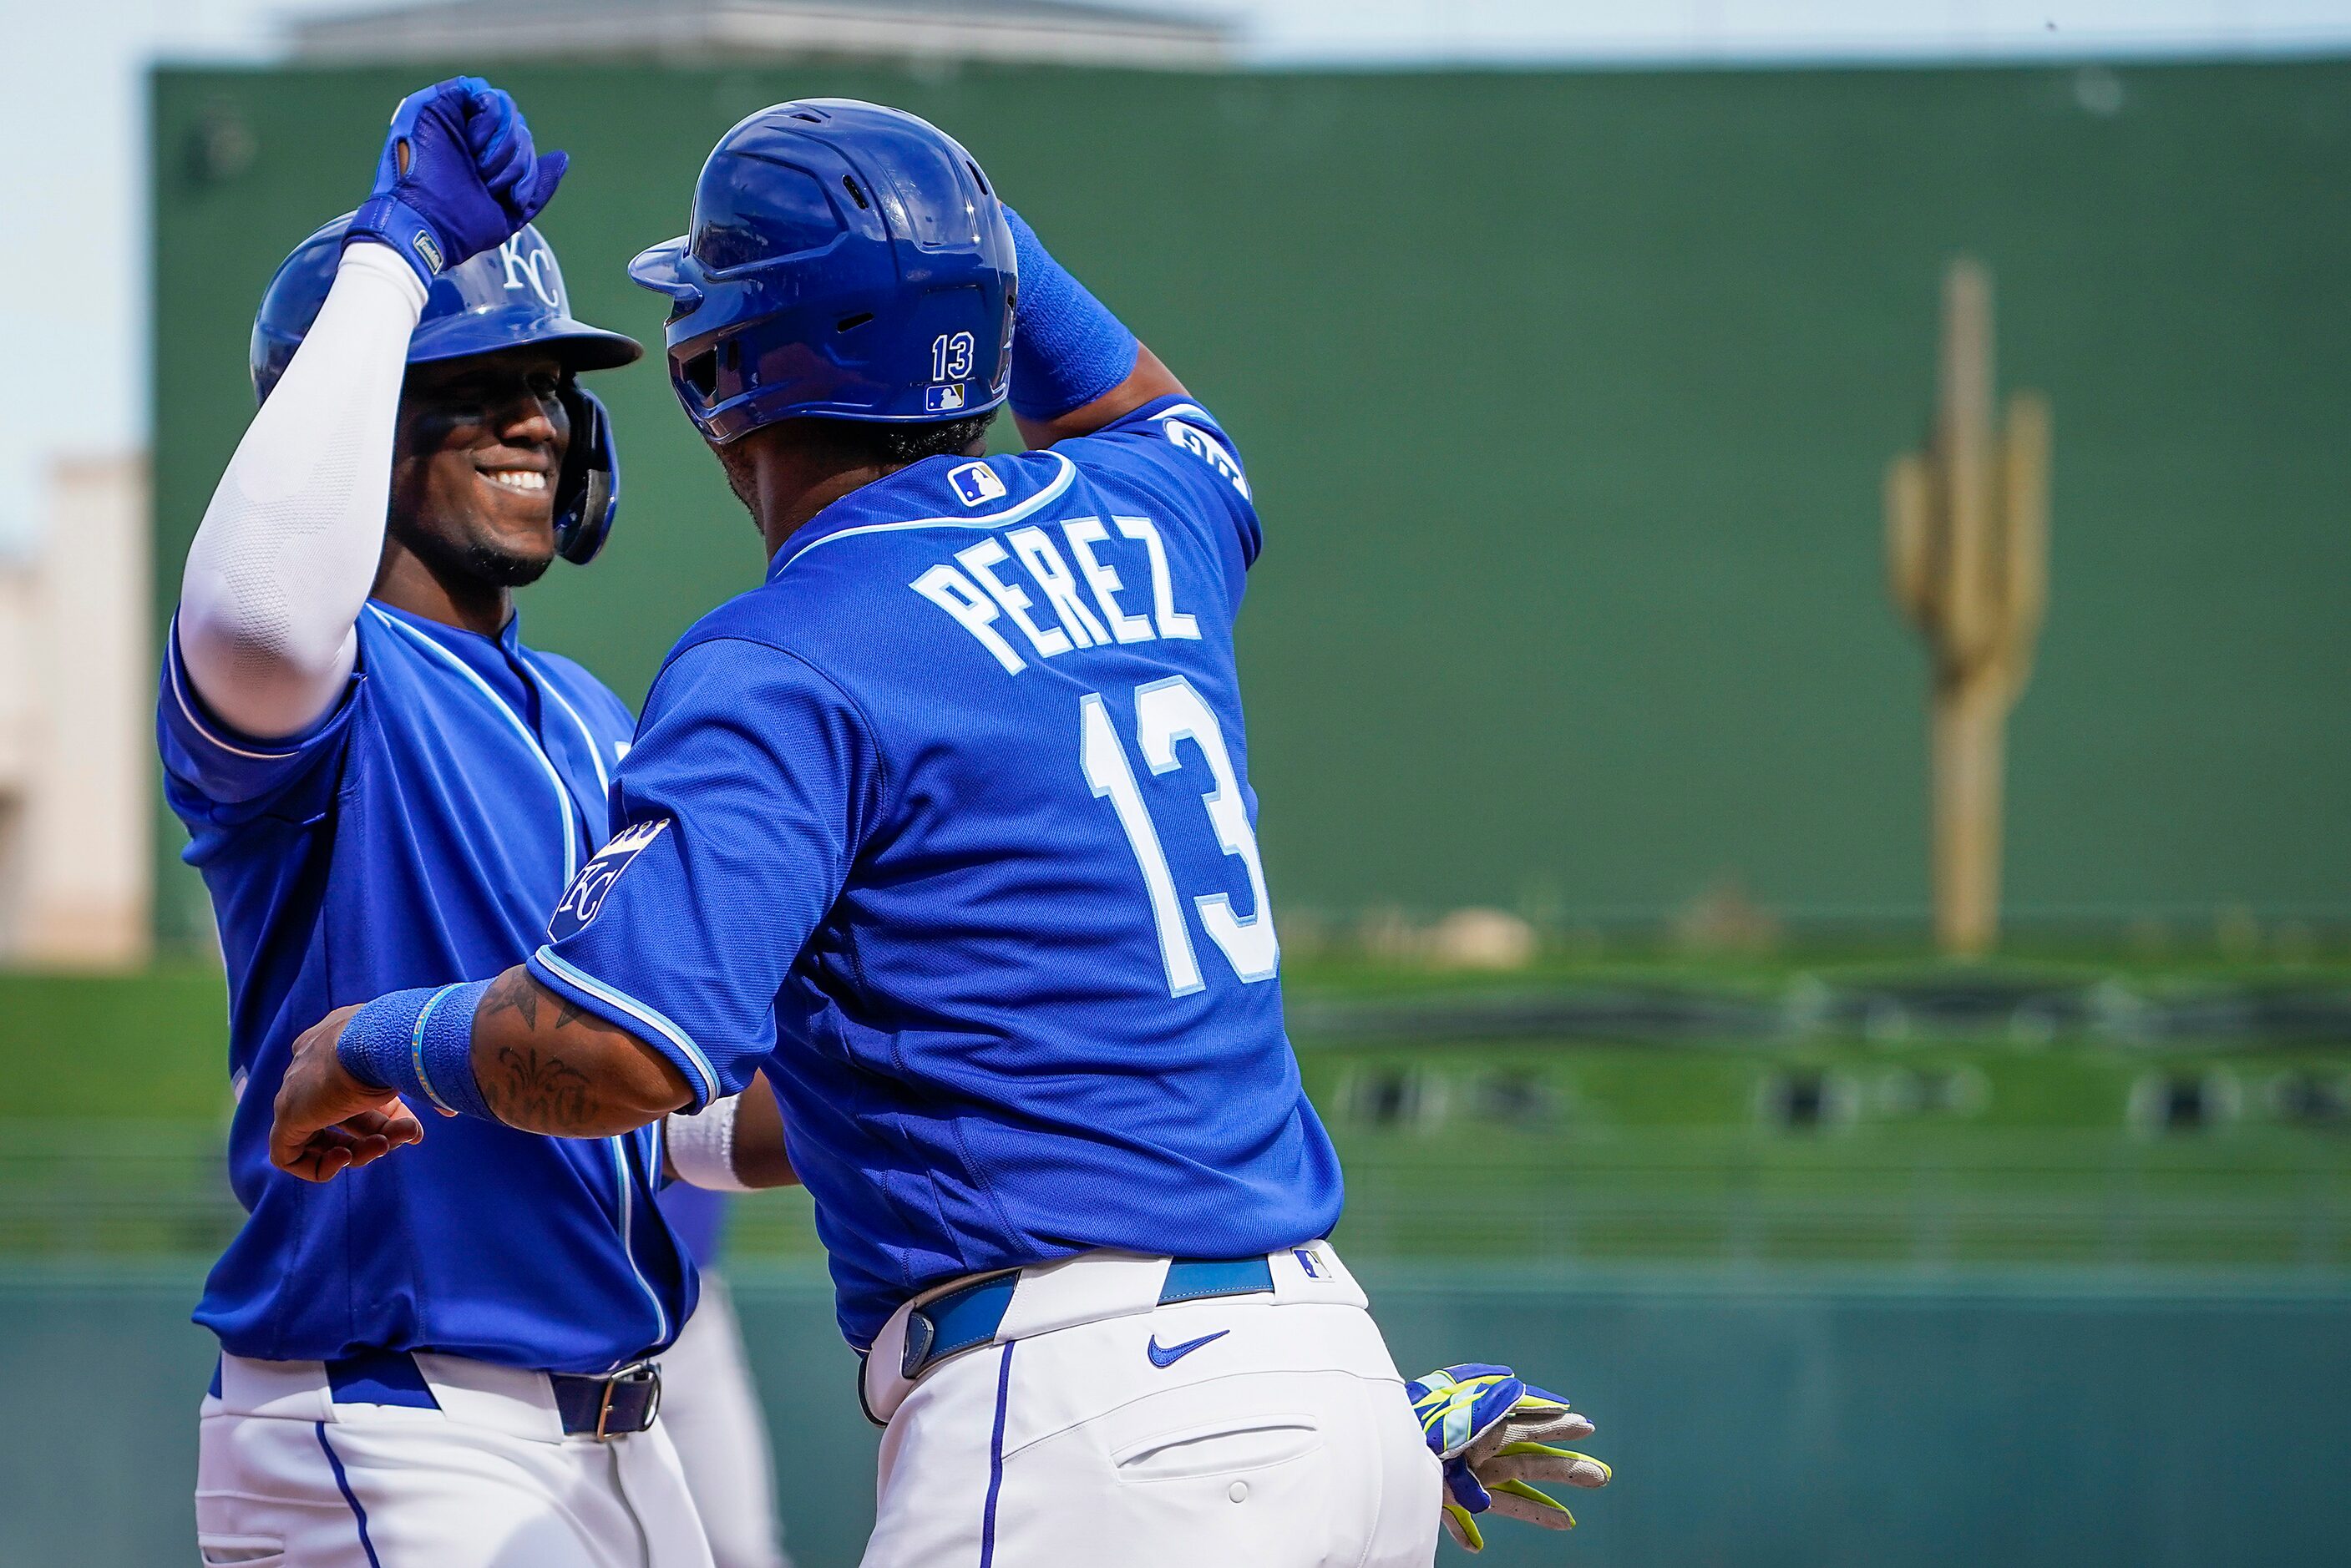
[[[56,454],[146,442],[141,73],[268,59],[383,0],[75,0],[9,16],[0,146],[0,550]],[[2351,52],[2351,0],[1201,0],[1267,63],[2083,59]],[[360,172],[355,172],[357,176]]]

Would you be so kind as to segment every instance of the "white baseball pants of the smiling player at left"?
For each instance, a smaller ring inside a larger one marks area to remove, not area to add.
[[[440,1410],[336,1403],[317,1361],[221,1356],[195,1469],[207,1568],[710,1568],[658,1420],[564,1436],[545,1373],[416,1366]]]

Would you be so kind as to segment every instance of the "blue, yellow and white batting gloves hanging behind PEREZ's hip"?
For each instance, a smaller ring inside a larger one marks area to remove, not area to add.
[[[1573,1530],[1575,1514],[1535,1490],[1535,1481],[1608,1486],[1608,1467],[1587,1453],[1554,1448],[1592,1434],[1568,1401],[1507,1366],[1469,1361],[1404,1385],[1420,1434],[1446,1467],[1446,1533],[1465,1552],[1483,1552],[1476,1516],[1493,1509],[1545,1530]]]

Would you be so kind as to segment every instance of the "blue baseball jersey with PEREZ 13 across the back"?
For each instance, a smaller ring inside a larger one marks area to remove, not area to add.
[[[531,973],[766,1065],[858,1347],[929,1284],[1321,1237],[1232,656],[1258,517],[1159,400],[825,508],[670,651]]]

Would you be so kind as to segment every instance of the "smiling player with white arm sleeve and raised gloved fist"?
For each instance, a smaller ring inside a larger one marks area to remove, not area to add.
[[[451,1126],[322,1190],[270,1168],[322,1009],[503,966],[604,835],[632,729],[522,644],[513,588],[614,515],[538,155],[480,80],[409,96],[376,186],[277,270],[263,400],[188,552],[160,745],[233,997],[245,1227],[195,1319],[207,1563],[705,1568],[647,1356],[694,1309],[656,1133]]]

